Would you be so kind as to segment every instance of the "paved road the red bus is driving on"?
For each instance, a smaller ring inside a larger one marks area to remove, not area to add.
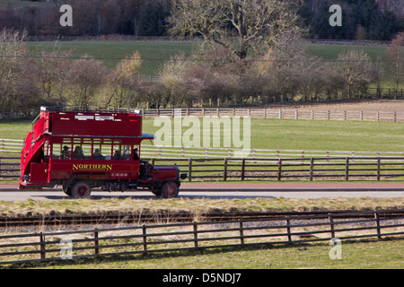
[[[247,197],[404,197],[402,183],[183,183],[180,196],[187,198],[247,198]],[[155,198],[150,192],[92,191],[92,199]],[[0,184],[0,200],[60,200],[69,199],[60,188],[43,191],[18,191],[17,185]]]

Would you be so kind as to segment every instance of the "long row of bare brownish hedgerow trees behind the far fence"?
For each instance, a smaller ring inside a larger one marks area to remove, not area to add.
[[[345,100],[366,97],[390,73],[399,91],[404,74],[404,33],[386,50],[387,65],[363,51],[347,50],[335,61],[313,57],[296,34],[278,37],[256,57],[240,58],[215,43],[164,61],[160,81],[139,76],[142,56],[135,52],[113,68],[83,55],[72,57],[56,41],[50,52],[31,57],[27,33],[0,35],[0,109],[40,105],[92,105],[103,108],[187,108],[235,106],[252,102]]]

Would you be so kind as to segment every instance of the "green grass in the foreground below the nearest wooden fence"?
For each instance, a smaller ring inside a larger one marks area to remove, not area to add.
[[[402,240],[351,241],[341,246],[342,259],[329,258],[327,243],[267,248],[219,249],[212,251],[114,257],[23,268],[51,269],[401,269]],[[401,250],[401,251],[400,251]],[[231,271],[229,271],[231,272]],[[242,273],[242,270],[237,271]],[[366,278],[364,278],[366,279]],[[313,280],[313,278],[311,279]],[[298,280],[296,279],[296,281]]]

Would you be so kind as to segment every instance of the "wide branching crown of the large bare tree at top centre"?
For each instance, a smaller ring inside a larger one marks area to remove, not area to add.
[[[295,1],[173,0],[171,34],[202,36],[240,59],[250,49],[272,44],[279,35],[299,30]]]

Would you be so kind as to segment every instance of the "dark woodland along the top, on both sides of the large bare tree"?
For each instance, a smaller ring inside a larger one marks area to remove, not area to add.
[[[404,29],[404,18],[400,19],[394,11],[378,9],[374,0],[292,2],[299,5],[298,14],[308,29],[306,37],[313,39],[388,40]],[[59,24],[62,4],[73,7],[73,27]],[[331,4],[342,7],[341,27],[329,27]],[[175,5],[175,0],[54,0],[19,8],[9,5],[0,10],[0,29],[27,30],[31,36],[166,36],[169,35],[168,19]]]

